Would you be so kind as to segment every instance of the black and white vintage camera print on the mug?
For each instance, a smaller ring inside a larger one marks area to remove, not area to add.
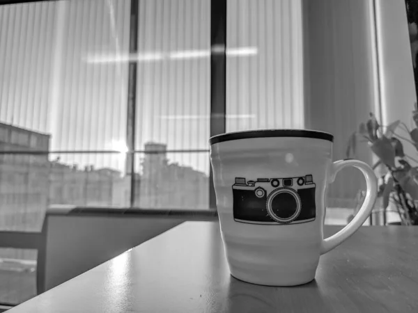
[[[315,220],[315,188],[312,175],[291,178],[235,177],[233,219],[240,223],[283,225]]]

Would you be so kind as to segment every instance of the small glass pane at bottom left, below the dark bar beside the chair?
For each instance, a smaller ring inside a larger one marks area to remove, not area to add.
[[[0,248],[0,303],[17,305],[36,296],[36,250]]]

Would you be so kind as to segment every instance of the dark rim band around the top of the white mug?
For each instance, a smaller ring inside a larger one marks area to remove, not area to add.
[[[311,129],[254,129],[249,131],[232,131],[215,135],[209,138],[209,144],[222,143],[224,141],[236,141],[249,138],[271,138],[271,137],[298,137],[323,139],[325,141],[334,141],[334,136],[325,131],[316,131]]]

